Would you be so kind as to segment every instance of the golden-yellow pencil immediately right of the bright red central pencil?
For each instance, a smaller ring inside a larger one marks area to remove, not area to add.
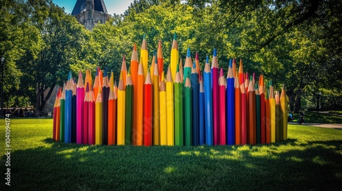
[[[160,144],[160,127],[159,127],[159,74],[157,55],[155,55],[155,70],[153,71],[153,145]]]

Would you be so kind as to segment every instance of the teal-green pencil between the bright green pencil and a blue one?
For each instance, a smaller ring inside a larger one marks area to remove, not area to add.
[[[192,87],[189,72],[185,75],[184,84],[184,128],[185,146],[192,145]]]

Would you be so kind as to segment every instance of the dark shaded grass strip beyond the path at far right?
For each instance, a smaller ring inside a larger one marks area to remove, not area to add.
[[[293,122],[297,122],[299,114],[294,113]],[[312,111],[306,111],[304,113],[305,123],[342,123],[342,117],[339,115],[332,115],[330,113],[317,113]]]

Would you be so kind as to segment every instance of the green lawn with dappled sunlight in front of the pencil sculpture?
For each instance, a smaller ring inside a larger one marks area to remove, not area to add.
[[[11,128],[11,190],[342,188],[342,130],[289,125],[284,143],[133,147],[55,143],[52,119],[12,119]],[[0,190],[4,162],[1,152]]]

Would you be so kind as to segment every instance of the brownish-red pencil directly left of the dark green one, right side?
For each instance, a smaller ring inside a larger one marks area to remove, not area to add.
[[[255,90],[253,81],[250,80],[250,84],[248,86],[248,143],[255,145],[257,144],[257,136],[256,136],[256,119],[255,119]]]

